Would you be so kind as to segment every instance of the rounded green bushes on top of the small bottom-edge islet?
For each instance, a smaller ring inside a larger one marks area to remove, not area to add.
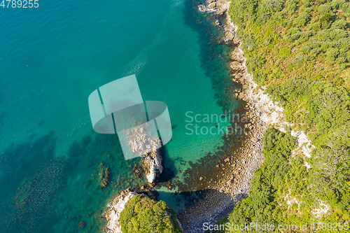
[[[124,233],[181,232],[175,211],[165,202],[156,202],[145,195],[136,195],[127,202],[120,223]]]

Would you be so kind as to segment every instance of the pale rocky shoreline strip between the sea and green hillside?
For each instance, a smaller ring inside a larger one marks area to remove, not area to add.
[[[225,24],[221,25],[218,20],[215,24],[223,28],[225,33],[223,41],[232,47],[229,65],[232,82],[239,87],[232,95],[234,94],[236,99],[244,103],[244,112],[250,120],[245,127],[250,129],[250,134],[239,142],[237,146],[239,150],[235,158],[225,159],[225,162],[232,166],[232,175],[225,181],[218,182],[216,187],[209,190],[200,202],[179,214],[183,232],[186,233],[203,232],[203,223],[214,224],[228,216],[235,204],[248,196],[254,171],[264,160],[262,136],[269,125],[283,120],[283,108],[274,104],[272,99],[263,93],[264,90],[253,82],[253,78],[247,72],[244,52],[241,50],[241,43],[236,34],[237,27],[232,24],[228,15],[229,6],[230,3],[225,0],[208,0],[206,5],[200,5],[198,9],[225,18]]]

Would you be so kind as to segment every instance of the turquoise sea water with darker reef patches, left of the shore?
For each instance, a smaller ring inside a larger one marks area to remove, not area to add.
[[[106,203],[145,183],[133,172],[141,160],[125,161],[116,136],[92,131],[87,97],[117,78],[135,73],[144,100],[167,104],[173,138],[165,167],[180,180],[188,161],[221,146],[220,134],[186,134],[186,112],[220,115],[217,101],[230,83],[225,45],[214,43],[219,35],[196,4],[0,8],[0,232],[98,232]],[[106,167],[111,181],[100,189]],[[161,190],[159,198],[180,210]]]

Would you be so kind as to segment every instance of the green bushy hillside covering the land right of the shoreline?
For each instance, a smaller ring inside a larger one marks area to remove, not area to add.
[[[349,0],[230,4],[248,72],[267,85],[266,92],[286,110],[286,120],[315,148],[311,158],[300,151],[291,155],[290,133],[268,129],[265,162],[255,171],[249,197],[221,224],[349,223]],[[327,213],[319,214],[325,206]]]

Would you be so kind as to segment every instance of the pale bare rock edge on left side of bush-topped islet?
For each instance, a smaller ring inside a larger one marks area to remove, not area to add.
[[[105,233],[123,233],[119,223],[120,213],[122,213],[125,208],[125,204],[135,195],[139,194],[137,192],[131,192],[130,190],[124,190],[107,205],[105,218],[108,223],[104,227]]]

